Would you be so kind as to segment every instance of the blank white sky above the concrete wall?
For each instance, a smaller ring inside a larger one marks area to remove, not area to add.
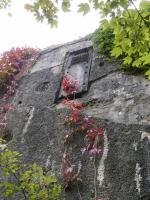
[[[7,11],[0,10],[0,53],[12,47],[46,48],[65,43],[93,32],[99,25],[99,13],[93,10],[82,16],[77,13],[77,5],[83,1],[76,0],[71,12],[59,13],[58,28],[51,29],[46,22],[38,23],[33,15],[24,9],[24,3],[27,1],[12,0],[12,17],[7,16]]]

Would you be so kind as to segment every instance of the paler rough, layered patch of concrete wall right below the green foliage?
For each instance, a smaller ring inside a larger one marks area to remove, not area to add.
[[[124,124],[150,124],[150,83],[143,77],[108,73],[91,83],[84,96],[95,100],[88,115]]]

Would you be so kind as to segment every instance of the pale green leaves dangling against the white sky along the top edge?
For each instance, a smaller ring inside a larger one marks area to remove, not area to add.
[[[75,2],[75,1],[74,1]],[[70,11],[73,0],[33,0],[32,3],[26,3],[25,9],[33,13],[37,21],[43,22],[47,20],[51,26],[57,26],[58,23],[58,11],[60,8],[64,12]],[[99,9],[103,15],[110,14],[116,9],[120,10],[122,7],[127,7],[127,0],[88,0],[86,3],[80,3],[78,5],[78,12],[87,14],[90,8]],[[1,0],[0,9],[5,9],[11,6],[11,0]]]

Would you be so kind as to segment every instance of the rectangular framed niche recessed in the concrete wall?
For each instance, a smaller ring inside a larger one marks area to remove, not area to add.
[[[69,75],[73,80],[77,80],[79,90],[76,94],[81,94],[88,90],[89,73],[92,63],[93,49],[83,48],[72,50],[66,54],[64,61],[63,77]],[[78,96],[76,95],[76,97]],[[67,94],[60,87],[59,98],[65,97]]]

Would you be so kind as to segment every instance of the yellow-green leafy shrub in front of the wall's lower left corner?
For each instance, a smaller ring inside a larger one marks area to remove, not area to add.
[[[25,165],[21,162],[22,155],[10,150],[0,139],[0,189],[5,197],[22,193],[28,200],[58,200],[61,185],[55,177],[45,174],[37,164]]]

